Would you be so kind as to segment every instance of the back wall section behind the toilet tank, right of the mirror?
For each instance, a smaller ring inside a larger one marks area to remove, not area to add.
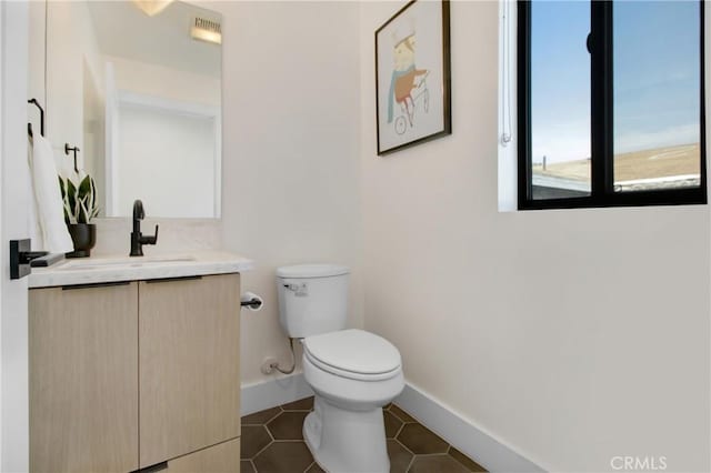
[[[224,16],[223,240],[256,261],[242,290],[266,308],[242,314],[242,383],[272,379],[262,359],[288,342],[276,268],[352,269],[351,326],[362,325],[358,4],[216,2]],[[299,353],[299,352],[298,352]]]

